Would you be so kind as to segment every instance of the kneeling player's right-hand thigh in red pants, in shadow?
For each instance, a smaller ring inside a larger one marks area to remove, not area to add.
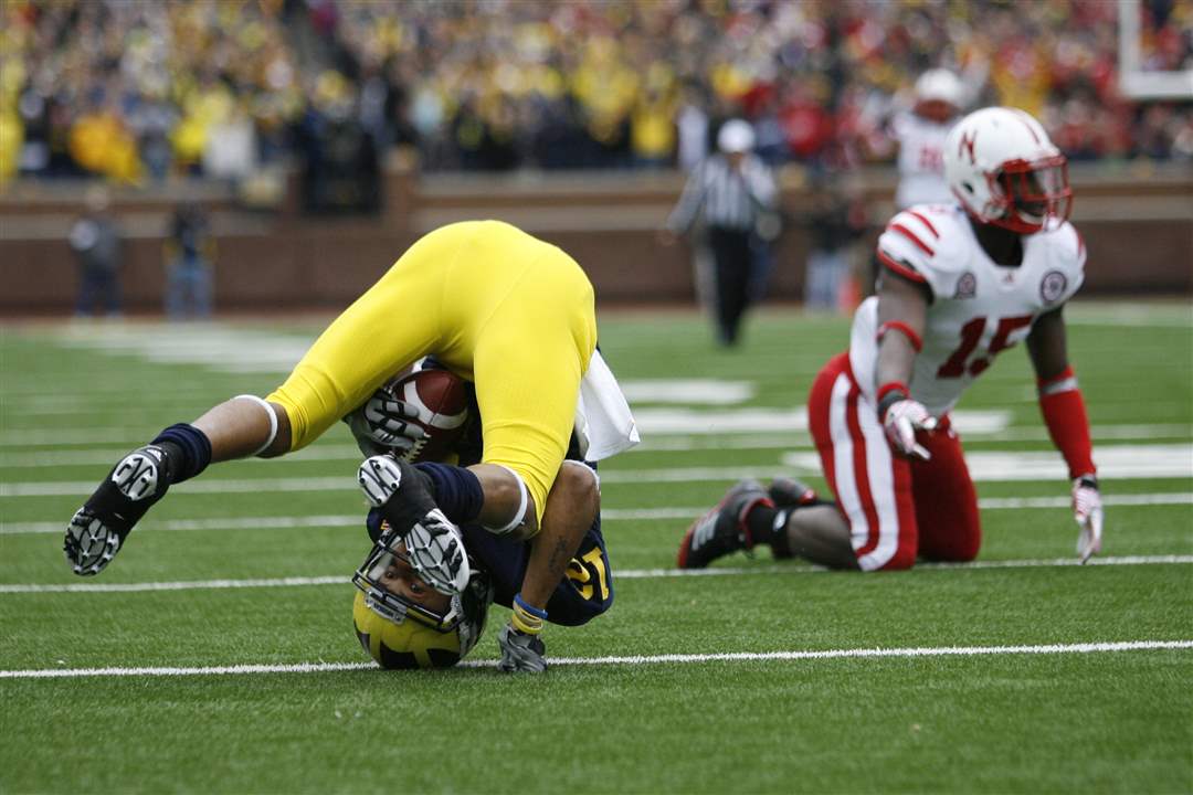
[[[951,423],[921,442],[932,458],[911,462],[911,490],[925,560],[969,561],[982,546],[977,492]]]

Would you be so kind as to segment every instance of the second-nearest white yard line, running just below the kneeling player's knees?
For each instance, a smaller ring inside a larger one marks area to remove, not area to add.
[[[1193,564],[1193,554],[1185,555],[1121,555],[1094,558],[1087,566],[1161,566]],[[917,569],[947,571],[954,569],[1070,569],[1080,566],[1075,558],[1039,560],[975,560],[973,563],[923,563]],[[799,564],[772,566],[718,566],[715,569],[626,569],[614,570],[613,579],[670,579],[675,577],[734,577],[742,574],[814,574],[828,569]],[[211,591],[241,588],[305,588],[311,585],[347,585],[346,574],[322,577],[273,577],[248,579],[186,579],[149,583],[10,583],[0,585],[0,594],[141,594],[147,591]]]

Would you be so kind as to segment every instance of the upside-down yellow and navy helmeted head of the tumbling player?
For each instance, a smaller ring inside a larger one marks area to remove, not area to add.
[[[415,572],[406,547],[385,527],[352,577],[352,623],[364,650],[382,667],[451,667],[484,629],[493,589],[483,572],[464,592],[446,596]]]

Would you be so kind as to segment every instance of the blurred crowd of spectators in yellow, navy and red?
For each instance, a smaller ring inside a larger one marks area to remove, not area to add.
[[[427,169],[691,167],[749,119],[769,163],[895,156],[925,69],[1073,160],[1193,159],[1193,103],[1118,93],[1105,0],[6,0],[0,179],[236,178],[286,157]],[[1144,0],[1151,69],[1193,2]],[[338,153],[338,154],[336,154]],[[367,201],[367,197],[363,200]]]

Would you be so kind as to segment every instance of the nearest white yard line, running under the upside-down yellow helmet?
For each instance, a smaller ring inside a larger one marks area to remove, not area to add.
[[[628,654],[619,657],[549,657],[549,665],[692,665],[829,659],[890,659],[923,657],[996,657],[1007,654],[1099,654],[1193,648],[1193,640],[1124,640],[1021,646],[913,646],[908,648],[824,648],[784,652],[721,652],[712,654]],[[494,667],[496,660],[469,660],[460,667]],[[0,671],[0,679],[64,679],[81,677],[235,676],[246,673],[328,673],[379,670],[372,663],[293,663],[273,665],[211,665],[193,667],[82,667]]]

